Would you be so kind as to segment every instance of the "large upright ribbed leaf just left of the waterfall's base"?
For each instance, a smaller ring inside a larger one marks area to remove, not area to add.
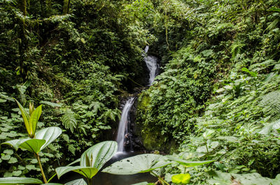
[[[88,156],[90,167],[100,170],[116,154],[117,149],[118,143],[115,141],[100,142],[83,152],[80,157],[80,166],[88,166],[86,158]]]

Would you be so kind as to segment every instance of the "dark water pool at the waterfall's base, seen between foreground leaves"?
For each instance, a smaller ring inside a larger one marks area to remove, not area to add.
[[[120,161],[123,158],[127,158],[130,156],[135,156],[139,153],[136,152],[122,152],[113,156],[110,161],[108,161],[104,167],[115,163],[116,161]],[[62,176],[63,178],[60,180],[60,183],[70,182],[74,179],[83,178],[83,176],[78,175],[78,173],[70,172]],[[104,172],[98,172],[97,175],[93,177],[94,185],[130,185],[137,184],[139,182],[156,182],[157,178],[153,177],[149,173],[141,173],[136,175],[111,175]]]

